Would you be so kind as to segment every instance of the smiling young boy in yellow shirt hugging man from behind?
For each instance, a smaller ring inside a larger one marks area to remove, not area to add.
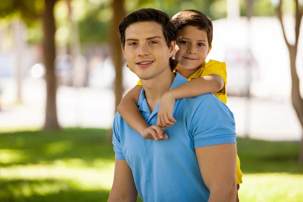
[[[140,81],[124,96],[118,107],[118,112],[125,122],[147,139],[168,139],[163,131],[165,127],[171,127],[176,122],[172,114],[176,99],[214,93],[223,103],[226,104],[227,100],[226,64],[214,60],[205,62],[212,49],[212,21],[201,12],[186,10],[177,13],[172,18],[172,23],[178,30],[179,47],[175,53],[178,65],[174,71],[187,78],[189,82],[163,95],[159,106],[158,125],[149,126],[138,111],[136,104],[142,89]],[[239,188],[239,184],[242,183],[242,173],[238,157],[236,178]]]

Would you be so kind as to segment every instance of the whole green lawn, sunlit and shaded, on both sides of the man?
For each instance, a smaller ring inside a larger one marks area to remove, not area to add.
[[[0,201],[107,201],[114,152],[103,129],[0,133]],[[298,142],[238,138],[240,201],[303,201]]]

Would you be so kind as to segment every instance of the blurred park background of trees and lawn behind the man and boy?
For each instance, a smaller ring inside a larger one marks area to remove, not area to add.
[[[118,25],[141,8],[213,20],[240,201],[303,201],[301,0],[1,0],[0,201],[107,201],[113,118],[138,81]]]

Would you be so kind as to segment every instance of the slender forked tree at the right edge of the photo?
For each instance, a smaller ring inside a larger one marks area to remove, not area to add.
[[[300,33],[300,25],[303,15],[303,6],[299,4],[298,0],[293,0],[295,2],[295,41],[293,44],[290,44],[289,40],[285,34],[285,27],[283,23],[283,14],[282,14],[282,6],[283,0],[280,0],[279,6],[277,9],[277,16],[280,21],[283,30],[283,36],[288,48],[289,52],[289,61],[290,61],[290,73],[291,73],[291,99],[292,99],[292,106],[296,112],[296,115],[299,119],[301,127],[303,129],[303,99],[300,95],[300,88],[299,88],[299,77],[296,71],[296,57],[297,57],[297,49],[298,49],[298,39]],[[301,148],[299,154],[299,162],[303,163],[303,136],[301,139]]]

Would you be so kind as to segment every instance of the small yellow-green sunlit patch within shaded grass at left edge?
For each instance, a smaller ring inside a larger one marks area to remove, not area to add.
[[[21,163],[27,159],[24,151],[13,149],[0,149],[0,163]]]

